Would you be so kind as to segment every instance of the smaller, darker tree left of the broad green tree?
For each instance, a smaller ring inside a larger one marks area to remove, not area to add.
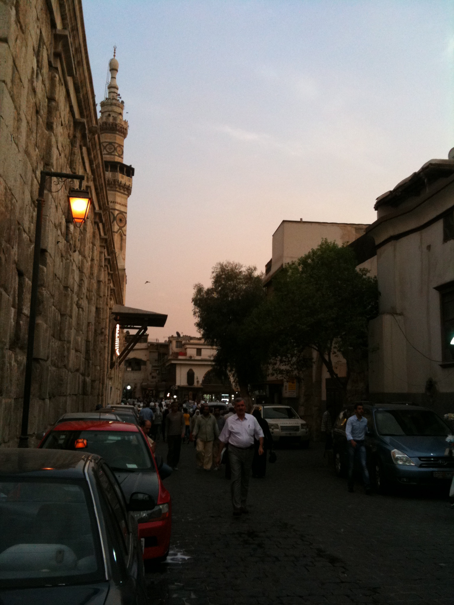
[[[235,379],[248,406],[249,385],[262,381],[265,361],[250,321],[265,301],[262,276],[256,271],[240,263],[217,263],[211,287],[196,284],[192,296],[196,327],[208,344],[217,347],[215,369]]]

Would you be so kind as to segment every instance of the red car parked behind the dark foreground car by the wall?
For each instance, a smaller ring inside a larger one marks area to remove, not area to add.
[[[145,560],[164,560],[169,552],[172,505],[162,484],[148,440],[139,427],[125,422],[74,420],[51,428],[39,448],[87,451],[108,463],[127,502],[134,492],[153,497],[150,511],[134,512]]]

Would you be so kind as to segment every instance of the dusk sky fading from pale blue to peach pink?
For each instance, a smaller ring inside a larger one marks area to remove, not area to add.
[[[263,271],[282,220],[370,223],[454,146],[452,1],[83,4],[98,103],[117,47],[126,304],[168,313],[150,338],[196,335],[194,284]]]

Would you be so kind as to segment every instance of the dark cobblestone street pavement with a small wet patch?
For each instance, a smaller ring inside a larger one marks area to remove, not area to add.
[[[240,518],[223,471],[197,470],[192,445],[165,485],[171,554],[146,574],[152,605],[454,604],[454,509],[442,495],[349,494],[318,444],[277,450]]]

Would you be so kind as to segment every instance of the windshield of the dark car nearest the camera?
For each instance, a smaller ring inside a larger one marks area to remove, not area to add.
[[[99,534],[87,502],[82,483],[0,477],[0,585],[102,581]]]

